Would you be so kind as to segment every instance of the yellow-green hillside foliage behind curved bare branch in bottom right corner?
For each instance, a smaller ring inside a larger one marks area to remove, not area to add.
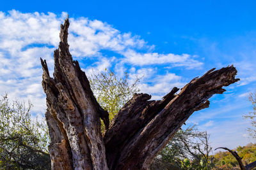
[[[243,164],[247,165],[256,160],[256,144],[249,143],[246,146],[238,146],[235,150],[239,157],[243,158]],[[218,152],[214,155],[216,167],[220,169],[239,169],[237,160],[230,152]]]

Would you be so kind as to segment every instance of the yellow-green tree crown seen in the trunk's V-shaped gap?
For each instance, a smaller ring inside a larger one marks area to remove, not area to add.
[[[88,79],[98,103],[108,111],[110,122],[120,108],[131,99],[132,94],[140,91],[138,89],[140,79],[136,78],[130,84],[129,75],[126,72],[124,78],[118,78],[115,73],[105,69],[104,72],[93,74]],[[102,129],[104,128],[102,127]]]

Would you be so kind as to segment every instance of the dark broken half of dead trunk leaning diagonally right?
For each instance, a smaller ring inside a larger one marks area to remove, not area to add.
[[[201,78],[191,80],[166,103],[165,98],[147,101],[150,99],[147,94],[134,95],[116,115],[104,136],[109,168],[147,169],[195,110],[209,106],[207,99],[223,93],[223,86],[239,80],[235,78],[236,73],[233,66],[212,69]]]

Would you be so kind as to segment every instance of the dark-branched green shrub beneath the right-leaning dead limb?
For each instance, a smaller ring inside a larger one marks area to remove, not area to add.
[[[209,155],[207,132],[199,132],[195,126],[180,129],[157,155],[150,169],[211,169],[213,157]]]

